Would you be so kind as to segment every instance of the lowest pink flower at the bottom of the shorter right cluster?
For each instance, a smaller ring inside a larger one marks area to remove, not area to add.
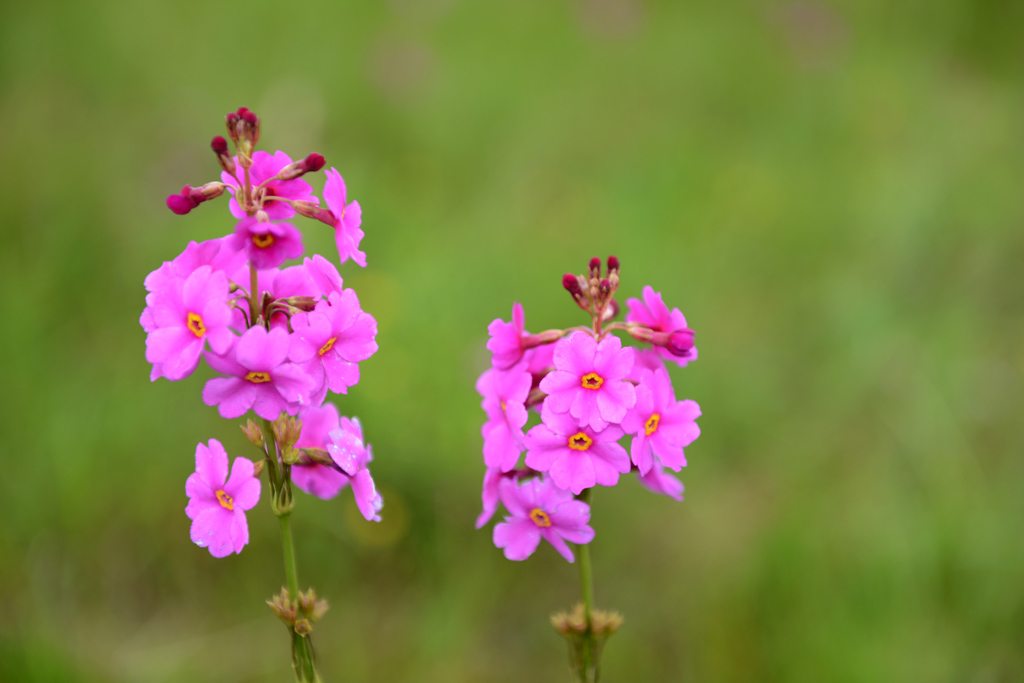
[[[524,560],[534,554],[541,539],[550,543],[567,561],[574,561],[565,542],[587,544],[594,540],[588,525],[590,506],[577,501],[567,490],[543,478],[521,484],[505,477],[501,499],[510,516],[495,525],[495,545],[505,550],[510,560]]]

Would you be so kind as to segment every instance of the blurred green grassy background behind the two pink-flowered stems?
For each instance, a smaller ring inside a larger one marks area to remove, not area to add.
[[[0,680],[285,681],[252,543],[188,540],[207,370],[148,382],[143,276],[230,230],[242,104],[364,207],[385,521],[302,498],[327,681],[568,680],[577,568],[474,530],[487,323],[581,322],[622,258],[697,332],[687,500],[595,496],[608,682],[1024,680],[1024,5],[1010,0],[0,6]],[[322,180],[313,180],[317,194]],[[300,223],[308,252],[327,228]]]

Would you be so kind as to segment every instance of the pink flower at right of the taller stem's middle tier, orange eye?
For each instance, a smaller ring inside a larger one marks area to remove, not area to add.
[[[291,359],[315,382],[313,402],[327,390],[346,393],[359,381],[359,367],[377,351],[377,321],[359,308],[352,290],[332,293],[309,313],[292,316]]]

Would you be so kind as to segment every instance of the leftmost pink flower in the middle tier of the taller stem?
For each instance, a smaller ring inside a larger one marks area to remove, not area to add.
[[[141,321],[143,328],[150,327],[145,359],[159,365],[167,379],[180,380],[196,370],[207,341],[218,353],[231,346],[227,275],[201,265],[186,280],[160,284],[161,289],[146,296],[150,315]]]

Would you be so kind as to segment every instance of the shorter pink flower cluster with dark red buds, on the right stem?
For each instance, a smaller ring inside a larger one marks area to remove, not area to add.
[[[700,434],[700,409],[676,399],[665,361],[685,367],[696,358],[693,332],[650,287],[642,301],[627,301],[624,323],[614,322],[618,259],[608,258],[604,276],[601,265],[592,259],[586,275],[562,281],[591,326],[531,335],[516,303],[510,323],[487,328],[492,367],[476,383],[487,416],[476,526],[503,505],[509,516],[495,526],[494,541],[511,560],[531,555],[543,538],[572,562],[565,542],[594,538],[588,489],[613,486],[631,471],[646,488],[683,500],[682,482],[667,470],[686,466],[683,449]],[[615,331],[644,345],[624,347]]]

